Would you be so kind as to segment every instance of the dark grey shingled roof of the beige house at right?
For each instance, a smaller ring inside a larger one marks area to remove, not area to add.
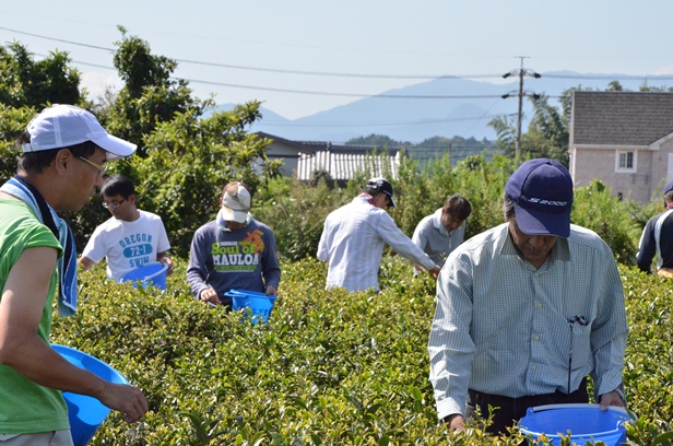
[[[673,132],[673,93],[572,93],[570,144],[649,145]]]

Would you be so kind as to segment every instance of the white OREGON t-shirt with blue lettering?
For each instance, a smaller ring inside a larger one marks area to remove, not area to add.
[[[141,211],[132,222],[114,216],[94,231],[82,253],[94,263],[107,259],[107,277],[119,282],[121,278],[146,263],[156,261],[156,254],[170,249],[162,219]]]

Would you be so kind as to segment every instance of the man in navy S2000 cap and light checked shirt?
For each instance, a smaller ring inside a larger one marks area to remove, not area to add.
[[[588,375],[602,410],[624,406],[622,281],[610,247],[570,224],[571,207],[568,171],[528,161],[505,187],[506,223],[445,263],[428,353],[449,429],[488,406],[498,409],[487,431],[505,433],[529,407],[588,402]]]

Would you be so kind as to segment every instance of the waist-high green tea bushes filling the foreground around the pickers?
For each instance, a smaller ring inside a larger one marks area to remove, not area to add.
[[[625,385],[637,445],[671,431],[670,282],[619,267],[631,327]],[[111,364],[141,387],[151,411],[137,424],[113,413],[92,445],[518,445],[479,427],[448,434],[427,379],[434,282],[385,257],[379,294],[326,291],[326,266],[283,265],[269,324],[193,300],[176,259],[167,291],[81,277],[72,318],[52,342]],[[664,443],[665,444],[665,443]]]

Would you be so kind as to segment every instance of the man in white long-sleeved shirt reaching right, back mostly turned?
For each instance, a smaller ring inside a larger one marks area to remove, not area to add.
[[[318,245],[318,258],[329,262],[327,287],[378,291],[385,244],[432,274],[439,272],[440,267],[386,212],[395,206],[392,196],[390,181],[371,178],[352,202],[327,216]]]

